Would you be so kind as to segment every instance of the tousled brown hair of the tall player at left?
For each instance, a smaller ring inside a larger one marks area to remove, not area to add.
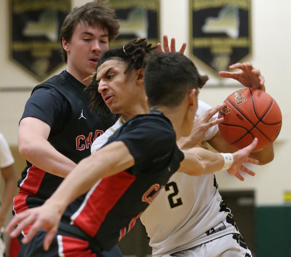
[[[115,39],[119,33],[119,21],[114,10],[108,6],[108,0],[95,0],[86,3],[81,7],[75,7],[64,20],[60,30],[59,40],[62,45],[62,39],[70,41],[78,23],[84,22],[89,26],[98,26],[102,29],[108,29],[109,42]],[[62,45],[62,57],[67,63],[68,56]]]

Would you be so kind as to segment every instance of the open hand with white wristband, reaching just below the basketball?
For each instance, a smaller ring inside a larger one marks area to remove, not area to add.
[[[257,146],[257,143],[258,143],[258,139],[255,138],[249,146],[246,146],[245,148],[240,149],[232,154],[233,163],[230,169],[227,170],[229,174],[236,176],[241,181],[244,181],[245,179],[239,173],[240,170],[251,176],[255,176],[255,173],[252,170],[249,170],[246,166],[243,166],[243,163],[259,164],[258,160],[248,157],[250,152],[252,152],[253,149],[255,149],[255,147]]]

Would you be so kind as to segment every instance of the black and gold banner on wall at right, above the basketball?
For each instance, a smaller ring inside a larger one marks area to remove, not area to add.
[[[212,72],[251,54],[251,0],[190,0],[192,57]]]

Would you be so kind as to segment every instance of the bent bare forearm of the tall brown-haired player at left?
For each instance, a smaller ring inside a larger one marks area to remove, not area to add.
[[[19,143],[19,153],[39,169],[60,177],[66,177],[76,166],[41,137]]]

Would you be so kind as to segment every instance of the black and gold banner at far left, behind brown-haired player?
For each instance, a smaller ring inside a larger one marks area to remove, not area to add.
[[[63,63],[59,30],[70,0],[11,0],[11,59],[42,81]]]

